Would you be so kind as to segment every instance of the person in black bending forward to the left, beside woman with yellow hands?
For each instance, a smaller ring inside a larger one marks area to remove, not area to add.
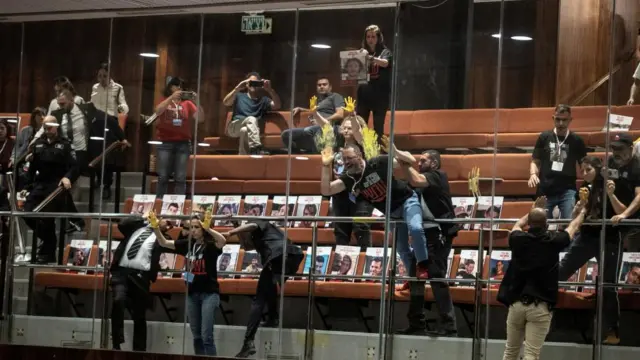
[[[245,332],[242,349],[236,358],[247,358],[256,353],[253,340],[260,325],[262,311],[267,306],[268,318],[264,326],[278,326],[278,285],[283,275],[294,275],[303,260],[299,246],[291,244],[284,233],[275,225],[264,220],[250,221],[224,233],[227,239],[237,235],[245,251],[256,250],[262,261],[262,271],[258,279],[256,296],[251,303],[249,323]],[[286,253],[285,250],[286,249]],[[284,260],[283,260],[284,257]],[[284,278],[286,281],[286,277]]]

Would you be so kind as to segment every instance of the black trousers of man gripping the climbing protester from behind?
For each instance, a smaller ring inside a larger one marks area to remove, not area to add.
[[[451,252],[451,244],[453,238],[446,238],[444,243],[440,241],[440,230],[425,230],[427,236],[427,250],[429,259],[427,260],[427,271],[429,278],[446,278],[447,277],[447,259]],[[409,275],[416,274],[416,258],[411,256],[411,266],[409,267]],[[426,327],[426,318],[424,316],[424,281],[412,281],[410,283],[409,311],[407,318],[409,325],[416,328]],[[438,315],[440,316],[440,327],[447,331],[457,331],[456,313],[451,299],[448,282],[431,282],[431,291],[435,299]]]

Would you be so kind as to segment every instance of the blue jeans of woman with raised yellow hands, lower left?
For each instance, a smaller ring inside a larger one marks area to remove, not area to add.
[[[193,336],[193,351],[196,355],[216,355],[213,342],[213,325],[216,309],[220,306],[220,295],[216,293],[190,293],[187,302],[189,327]]]

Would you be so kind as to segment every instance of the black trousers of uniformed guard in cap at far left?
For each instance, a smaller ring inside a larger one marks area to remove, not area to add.
[[[31,212],[40,203],[47,198],[58,187],[58,182],[39,183],[36,184],[29,192],[24,203],[24,211]],[[47,206],[42,209],[43,212],[60,212],[65,211],[73,204],[73,199],[69,191],[63,191],[56,196]],[[75,207],[75,205],[73,205]],[[41,244],[38,246],[38,256],[53,256],[56,252],[58,237],[56,236],[56,221],[52,218],[24,218],[27,226],[33,230],[36,238],[40,239]]]

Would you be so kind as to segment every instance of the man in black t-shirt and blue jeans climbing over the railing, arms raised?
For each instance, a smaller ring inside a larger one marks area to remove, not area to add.
[[[396,156],[400,161],[414,163],[411,154],[399,153]],[[320,191],[324,196],[331,196],[342,191],[347,191],[349,200],[357,202],[365,200],[374,208],[384,213],[387,204],[387,175],[389,171],[389,156],[380,155],[365,160],[357,146],[348,145],[342,150],[344,171],[337,179],[333,178],[333,150],[329,147],[322,151],[322,179]],[[393,167],[399,166],[399,161],[393,159]],[[409,248],[409,235],[411,246],[415,253],[417,265],[416,276],[426,279],[427,273],[427,239],[422,228],[422,207],[418,194],[409,187],[406,182],[391,177],[391,213],[387,214],[393,219],[402,219],[404,222],[396,224],[396,251],[405,267],[410,268],[411,249]]]

